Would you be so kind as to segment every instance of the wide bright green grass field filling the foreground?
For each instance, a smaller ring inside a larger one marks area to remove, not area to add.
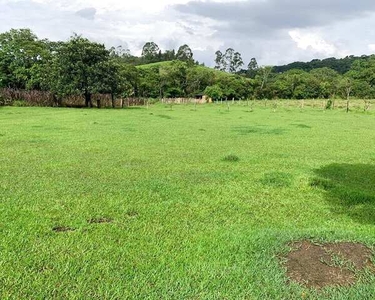
[[[374,276],[314,291],[280,264],[290,241],[375,245],[374,129],[312,108],[0,108],[0,299],[374,299]]]

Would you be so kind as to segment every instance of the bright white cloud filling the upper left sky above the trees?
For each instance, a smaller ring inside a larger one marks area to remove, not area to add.
[[[41,38],[53,40],[66,40],[76,32],[107,46],[126,45],[133,54],[140,54],[147,41],[155,41],[162,49],[184,43],[193,50],[216,46],[210,39],[213,21],[185,22],[167,8],[186,1],[6,1],[0,10],[0,31],[29,27]]]

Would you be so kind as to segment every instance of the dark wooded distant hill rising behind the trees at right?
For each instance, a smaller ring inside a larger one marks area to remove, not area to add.
[[[286,71],[292,70],[292,69],[299,69],[299,70],[304,70],[304,71],[311,71],[313,69],[318,69],[318,68],[330,68],[335,71],[337,71],[340,74],[345,74],[348,72],[352,66],[352,64],[356,60],[368,60],[369,58],[374,57],[374,55],[368,56],[368,55],[362,55],[362,56],[347,56],[345,58],[326,58],[326,59],[313,59],[310,62],[293,62],[288,65],[283,65],[283,66],[275,66],[273,68],[273,71],[275,73],[284,73]]]

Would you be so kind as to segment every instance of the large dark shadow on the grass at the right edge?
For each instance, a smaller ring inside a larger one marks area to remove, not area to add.
[[[375,223],[375,165],[331,164],[315,173],[311,185],[326,191],[334,213]]]

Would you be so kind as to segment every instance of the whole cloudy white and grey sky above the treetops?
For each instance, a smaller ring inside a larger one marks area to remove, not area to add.
[[[73,33],[140,55],[188,44],[214,65],[234,48],[245,64],[280,65],[375,53],[374,0],[0,0],[0,32],[30,28],[39,38]]]

